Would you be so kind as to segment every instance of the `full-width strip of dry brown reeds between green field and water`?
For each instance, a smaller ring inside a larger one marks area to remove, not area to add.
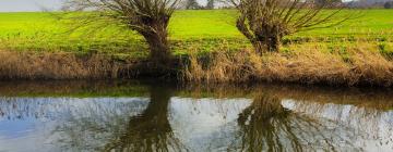
[[[259,56],[250,49],[175,55],[167,65],[108,54],[0,52],[1,79],[119,79],[154,77],[183,83],[281,81],[329,86],[393,86],[393,61],[378,45],[342,50],[287,46]],[[181,56],[181,58],[180,58]]]

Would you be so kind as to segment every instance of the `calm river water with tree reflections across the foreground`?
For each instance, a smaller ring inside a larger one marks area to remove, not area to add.
[[[0,151],[393,151],[393,91],[0,83]]]

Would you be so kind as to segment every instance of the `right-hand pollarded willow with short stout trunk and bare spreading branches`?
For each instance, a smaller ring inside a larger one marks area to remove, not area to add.
[[[331,27],[349,18],[337,0],[229,0],[239,11],[236,26],[258,53],[278,51],[284,36]],[[329,9],[329,10],[326,10]]]

